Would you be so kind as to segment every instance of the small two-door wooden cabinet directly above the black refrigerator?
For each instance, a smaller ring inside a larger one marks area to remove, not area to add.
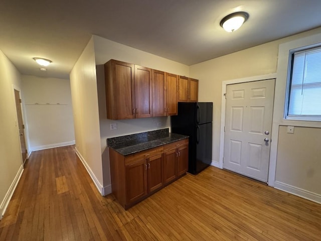
[[[197,102],[199,81],[180,76],[178,80],[178,102]]]

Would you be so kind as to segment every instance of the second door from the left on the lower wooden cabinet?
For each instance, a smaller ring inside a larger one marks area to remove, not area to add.
[[[163,186],[163,155],[157,155],[147,160],[148,192]]]

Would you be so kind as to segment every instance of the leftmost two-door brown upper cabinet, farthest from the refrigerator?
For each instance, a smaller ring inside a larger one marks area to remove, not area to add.
[[[151,69],[117,60],[105,63],[108,119],[152,116]]]

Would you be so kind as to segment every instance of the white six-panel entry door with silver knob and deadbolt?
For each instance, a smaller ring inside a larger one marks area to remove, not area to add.
[[[275,79],[227,85],[223,167],[267,182]]]

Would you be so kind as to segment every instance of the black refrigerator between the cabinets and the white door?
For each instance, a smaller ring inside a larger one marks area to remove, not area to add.
[[[171,116],[172,133],[189,136],[189,173],[197,174],[212,162],[213,102],[179,102]]]

